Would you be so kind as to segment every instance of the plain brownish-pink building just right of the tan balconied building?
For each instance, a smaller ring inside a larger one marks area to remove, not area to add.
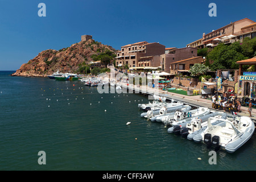
[[[160,55],[160,66],[162,67],[162,71],[169,73],[171,63],[191,57],[197,57],[197,48],[170,48],[167,53]]]

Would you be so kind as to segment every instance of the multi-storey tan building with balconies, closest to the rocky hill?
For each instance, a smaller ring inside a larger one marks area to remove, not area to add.
[[[138,42],[121,47],[117,52],[115,65],[123,67],[155,67],[160,65],[160,55],[166,46],[159,43]]]

